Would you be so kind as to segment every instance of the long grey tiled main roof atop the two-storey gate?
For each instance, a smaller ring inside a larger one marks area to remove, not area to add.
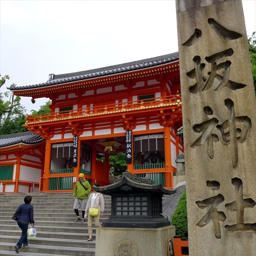
[[[45,83],[28,85],[28,86],[20,86],[20,87],[17,87],[15,84],[12,84],[8,89],[15,91],[20,89],[22,90],[22,89],[46,87],[54,84],[85,80],[85,79],[96,78],[96,77],[101,77],[105,75],[118,74],[122,72],[142,69],[146,67],[154,67],[154,66],[158,66],[158,65],[170,63],[173,61],[178,61],[178,60],[179,60],[179,53],[176,52],[173,54],[166,54],[166,55],[144,59],[140,61],[133,61],[133,62],[118,64],[114,66],[101,67],[101,68],[85,70],[85,71],[80,71],[75,73],[49,74],[49,80]]]

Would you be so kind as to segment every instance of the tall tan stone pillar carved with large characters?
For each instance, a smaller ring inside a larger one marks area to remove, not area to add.
[[[254,255],[256,101],[241,0],[176,0],[190,256]]]

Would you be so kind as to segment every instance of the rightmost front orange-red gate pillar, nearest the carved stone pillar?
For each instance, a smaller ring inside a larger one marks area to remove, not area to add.
[[[171,133],[170,127],[165,126],[163,129],[164,135],[164,158],[165,158],[165,187],[173,187],[173,171],[172,171],[172,156],[171,156]]]

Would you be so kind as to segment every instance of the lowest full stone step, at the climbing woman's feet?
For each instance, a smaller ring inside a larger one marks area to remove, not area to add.
[[[86,243],[86,242],[85,242]],[[92,243],[92,242],[87,242]],[[0,242],[1,250],[13,250],[13,243]],[[20,252],[35,252],[35,253],[48,253],[48,254],[62,254],[62,255],[75,255],[75,256],[94,256],[94,248],[76,248],[70,246],[58,246],[58,245],[42,245],[42,244],[30,244],[29,246],[22,247]]]

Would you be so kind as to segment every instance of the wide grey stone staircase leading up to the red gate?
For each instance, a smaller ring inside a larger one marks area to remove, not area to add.
[[[95,233],[93,242],[88,238],[87,220],[74,222],[72,193],[32,193],[0,195],[0,256],[17,255],[14,245],[18,242],[21,230],[12,216],[18,206],[24,203],[26,195],[32,195],[34,221],[37,231],[35,239],[28,240],[29,245],[20,249],[20,256],[94,256]],[[111,213],[111,197],[104,195],[104,218]],[[81,210],[79,211],[81,216]],[[30,227],[30,225],[29,225]]]

